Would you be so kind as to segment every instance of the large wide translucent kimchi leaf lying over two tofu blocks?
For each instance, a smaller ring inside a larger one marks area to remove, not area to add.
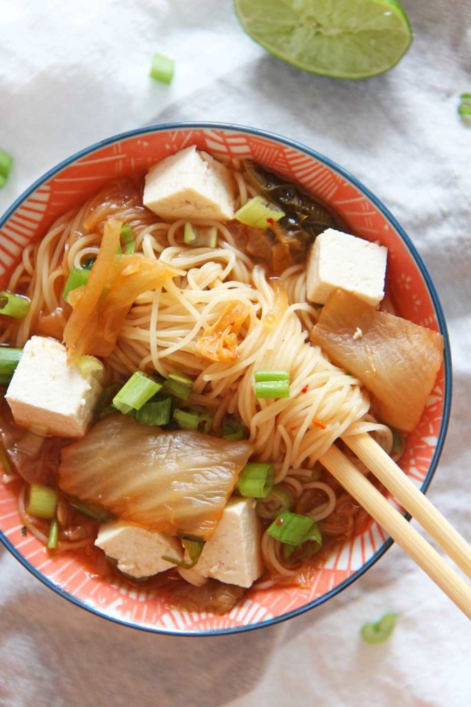
[[[64,447],[59,487],[148,530],[207,540],[252,451],[246,440],[110,415]]]

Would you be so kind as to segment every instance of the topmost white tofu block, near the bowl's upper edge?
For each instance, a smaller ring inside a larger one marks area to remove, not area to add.
[[[193,145],[166,157],[145,176],[144,206],[169,221],[179,218],[234,218],[234,187],[229,170],[203,159]]]

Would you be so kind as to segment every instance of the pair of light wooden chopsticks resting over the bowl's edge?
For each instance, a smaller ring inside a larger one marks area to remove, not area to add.
[[[368,433],[342,437],[367,469],[393,494],[455,564],[471,578],[471,547],[443,515],[412,484]],[[415,527],[410,525],[357,467],[332,445],[319,461],[344,489],[471,619],[471,588]]]

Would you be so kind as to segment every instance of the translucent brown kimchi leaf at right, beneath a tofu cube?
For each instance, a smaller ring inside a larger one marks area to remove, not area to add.
[[[441,367],[441,334],[338,290],[323,307],[311,341],[362,381],[383,422],[404,432],[417,427]]]

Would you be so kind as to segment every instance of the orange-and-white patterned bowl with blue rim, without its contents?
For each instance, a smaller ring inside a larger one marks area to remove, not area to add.
[[[145,127],[88,147],[49,170],[1,218],[0,286],[6,284],[23,247],[41,238],[58,216],[114,177],[143,172],[191,144],[215,157],[253,158],[326,202],[352,233],[388,247],[388,276],[400,314],[439,330],[445,339],[443,367],[400,462],[404,472],[425,491],[439,461],[451,402],[451,356],[439,298],[415,247],[381,201],[352,175],[310,148],[258,129],[213,123]],[[73,554],[49,556],[34,537],[23,537],[21,526],[16,496],[8,485],[0,484],[0,539],[45,585],[74,604],[120,624],[191,636],[255,629],[312,609],[352,584],[392,543],[372,522],[361,536],[338,547],[308,589],[251,590],[241,604],[221,617],[172,609],[150,590],[93,578]]]

